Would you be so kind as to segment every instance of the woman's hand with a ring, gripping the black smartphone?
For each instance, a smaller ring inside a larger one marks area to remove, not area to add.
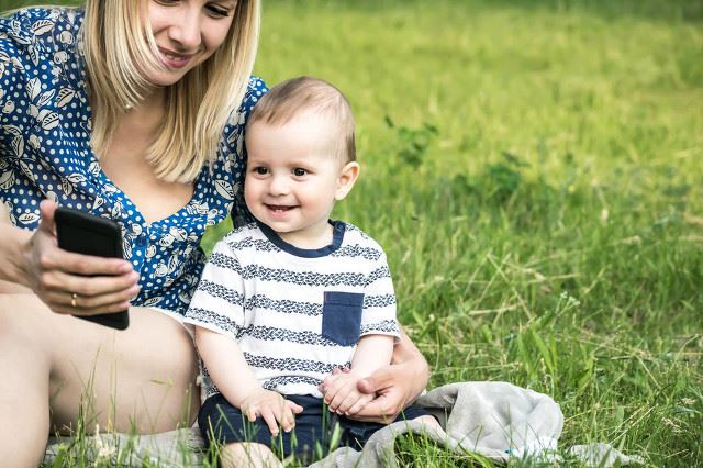
[[[56,208],[48,200],[40,205],[40,226],[23,252],[25,285],[57,313],[96,315],[127,309],[140,292],[138,274],[124,259],[58,248]]]

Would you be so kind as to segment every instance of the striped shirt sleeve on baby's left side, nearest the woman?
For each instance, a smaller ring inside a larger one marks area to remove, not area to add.
[[[244,330],[244,281],[235,252],[220,241],[205,264],[185,322],[238,339]]]

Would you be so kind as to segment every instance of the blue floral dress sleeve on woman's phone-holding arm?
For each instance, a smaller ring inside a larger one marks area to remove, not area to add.
[[[38,202],[70,196],[82,177],[59,167],[59,142],[78,114],[67,85],[77,73],[77,19],[71,9],[45,8],[0,18],[0,200],[20,227],[36,229]],[[76,204],[86,198],[74,194]]]

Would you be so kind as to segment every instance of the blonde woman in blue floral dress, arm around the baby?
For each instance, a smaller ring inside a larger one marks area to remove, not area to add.
[[[4,466],[38,464],[46,435],[79,417],[90,432],[193,422],[197,357],[179,317],[205,226],[247,216],[242,131],[266,91],[248,78],[258,20],[258,0],[88,0],[0,20]],[[126,260],[57,248],[56,202],[118,221]],[[124,332],[71,316],[126,305]],[[364,417],[392,416],[424,388],[406,336],[394,363],[360,385],[379,395]]]

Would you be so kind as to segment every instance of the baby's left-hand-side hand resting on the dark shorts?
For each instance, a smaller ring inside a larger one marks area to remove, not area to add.
[[[244,399],[239,410],[250,422],[261,416],[271,435],[276,437],[279,425],[286,432],[295,426],[295,414],[302,412],[303,408],[286,400],[280,393],[259,388]]]

